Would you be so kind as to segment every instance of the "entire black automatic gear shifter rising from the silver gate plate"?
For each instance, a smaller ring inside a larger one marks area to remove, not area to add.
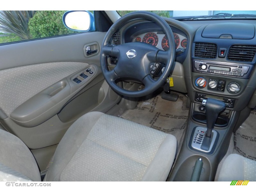
[[[212,98],[204,99],[202,105],[205,105],[207,131],[204,140],[202,141],[201,149],[208,151],[215,122],[219,113],[226,108],[226,105],[223,101]]]

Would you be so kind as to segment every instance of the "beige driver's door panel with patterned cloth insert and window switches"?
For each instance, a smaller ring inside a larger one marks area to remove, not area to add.
[[[121,97],[105,83],[100,69],[104,36],[89,32],[0,45],[0,107],[6,114],[0,113],[1,125],[37,150],[58,144],[84,113],[106,112],[118,103]],[[85,57],[84,46],[91,44],[98,45],[98,52]],[[81,103],[84,108],[78,107]]]

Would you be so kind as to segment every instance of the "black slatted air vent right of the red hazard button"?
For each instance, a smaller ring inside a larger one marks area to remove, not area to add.
[[[255,51],[255,45],[232,45],[228,52],[228,59],[251,62],[254,58]]]

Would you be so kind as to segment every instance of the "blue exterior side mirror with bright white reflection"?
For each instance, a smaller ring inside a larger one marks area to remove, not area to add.
[[[94,31],[94,16],[89,11],[67,11],[62,17],[63,24],[73,31]]]

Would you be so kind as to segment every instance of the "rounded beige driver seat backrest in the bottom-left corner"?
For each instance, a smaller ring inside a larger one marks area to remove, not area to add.
[[[7,176],[13,175],[17,178],[41,181],[35,158],[25,143],[15,135],[1,129],[0,154],[0,172],[3,174],[1,178],[6,178],[7,174]],[[14,177],[9,177],[8,181],[12,179],[16,181]]]

